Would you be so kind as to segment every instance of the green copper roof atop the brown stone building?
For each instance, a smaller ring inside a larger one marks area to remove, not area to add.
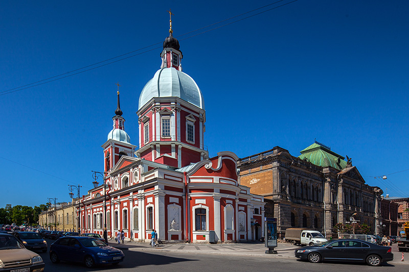
[[[300,151],[301,155],[298,156],[302,160],[307,160],[315,165],[327,167],[331,166],[338,170],[342,170],[347,166],[345,158],[336,154],[327,147],[321,144],[313,143],[306,149]]]

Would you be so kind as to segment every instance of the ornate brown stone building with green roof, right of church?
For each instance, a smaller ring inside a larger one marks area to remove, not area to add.
[[[379,187],[369,186],[343,156],[314,142],[299,157],[282,147],[238,161],[240,184],[264,196],[265,216],[276,217],[281,238],[290,227],[332,236],[337,222],[360,222],[379,233]]]

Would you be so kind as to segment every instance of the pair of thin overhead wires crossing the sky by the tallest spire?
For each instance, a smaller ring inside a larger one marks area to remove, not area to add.
[[[191,34],[191,33],[194,33],[194,32],[197,32],[197,31],[200,31],[200,30],[203,30],[203,29],[212,27],[212,26],[215,26],[215,25],[220,24],[220,23],[222,23],[222,22],[232,20],[232,19],[234,19],[234,18],[243,16],[243,15],[248,14],[248,13],[255,12],[255,11],[257,11],[257,10],[260,10],[260,9],[263,9],[263,8],[266,8],[266,7],[269,7],[269,6],[278,4],[278,3],[283,2],[283,1],[284,1],[284,0],[280,0],[280,1],[277,1],[277,2],[274,2],[274,3],[271,3],[271,4],[268,4],[268,5],[265,5],[265,6],[263,6],[263,7],[259,7],[259,8],[257,8],[257,9],[253,9],[253,10],[251,10],[251,11],[247,11],[247,12],[241,13],[241,14],[236,15],[236,16],[233,16],[233,17],[230,17],[230,18],[227,18],[227,19],[223,19],[223,20],[221,20],[221,21],[218,21],[218,22],[209,24],[209,25],[206,26],[206,27],[202,27],[202,28],[199,28],[199,29],[196,29],[196,30],[187,32],[187,33],[185,33],[185,34],[176,36],[176,38],[179,38],[179,37],[182,37],[182,36],[186,36],[186,35],[188,35],[188,34]],[[246,16],[246,17],[243,17],[243,18],[240,18],[240,19],[238,19],[238,20],[235,20],[235,21],[232,21],[232,22],[229,22],[229,23],[225,23],[225,24],[223,24],[223,25],[221,25],[221,26],[218,26],[218,27],[209,29],[209,30],[207,30],[207,31],[203,31],[203,32],[197,33],[197,34],[195,34],[195,35],[191,35],[191,36],[189,36],[189,37],[186,37],[186,38],[183,38],[183,39],[180,39],[180,40],[190,39],[190,38],[192,38],[192,37],[195,37],[195,36],[198,36],[198,35],[201,35],[201,34],[205,34],[205,33],[207,33],[207,32],[210,32],[210,31],[213,31],[213,30],[216,30],[216,29],[225,27],[225,26],[229,26],[230,24],[233,24],[233,23],[236,23],[236,22],[239,22],[239,21],[242,21],[242,20],[245,20],[245,19],[248,19],[248,18],[257,16],[257,15],[260,15],[260,14],[262,14],[262,13],[265,13],[265,12],[268,12],[268,11],[271,11],[271,10],[274,10],[274,9],[277,9],[277,8],[280,8],[280,7],[283,7],[283,6],[286,6],[286,5],[288,5],[288,4],[291,4],[291,3],[294,3],[294,2],[297,2],[297,1],[299,1],[299,0],[293,0],[293,1],[290,1],[290,2],[287,2],[287,3],[284,3],[284,4],[282,4],[282,5],[279,5],[279,6],[277,6],[277,7],[273,7],[273,8],[267,9],[267,10],[263,10],[263,11],[258,12],[258,13],[256,13],[256,14],[252,14],[252,15],[249,15],[249,16]],[[61,80],[61,79],[67,78],[67,77],[72,77],[72,76],[78,75],[79,73],[83,73],[83,72],[86,72],[86,71],[89,71],[89,70],[93,70],[93,69],[96,69],[96,68],[100,68],[100,67],[103,67],[103,66],[112,64],[112,63],[116,63],[116,62],[119,62],[119,61],[122,61],[122,60],[126,60],[126,59],[129,59],[129,58],[135,57],[135,56],[139,56],[139,55],[141,55],[141,54],[144,54],[144,53],[147,53],[147,52],[156,50],[156,49],[161,48],[161,47],[160,47],[160,46],[157,46],[157,47],[151,48],[150,50],[146,50],[146,51],[143,51],[143,52],[138,53],[138,54],[134,54],[134,55],[131,55],[131,56],[127,56],[127,57],[125,57],[125,58],[121,58],[121,57],[123,57],[123,56],[129,55],[129,54],[132,54],[132,53],[135,53],[135,52],[138,52],[138,51],[142,51],[142,50],[144,50],[144,49],[146,49],[146,48],[149,48],[149,47],[152,47],[152,46],[161,44],[161,43],[162,43],[162,42],[153,43],[153,44],[151,44],[151,45],[141,47],[141,48],[139,48],[139,49],[137,49],[137,50],[134,50],[134,51],[131,51],[131,52],[128,52],[128,53],[125,53],[125,54],[122,54],[122,55],[119,55],[119,56],[116,56],[116,57],[112,57],[112,58],[109,58],[109,59],[106,59],[106,60],[103,60],[103,61],[99,61],[99,62],[90,64],[90,65],[86,65],[86,66],[81,67],[81,68],[77,68],[77,69],[74,69],[74,70],[71,70],[71,71],[67,71],[67,72],[61,73],[60,75],[56,75],[56,76],[53,76],[53,77],[50,77],[50,78],[47,78],[47,79],[43,79],[43,80],[39,80],[39,81],[30,83],[30,84],[26,84],[26,85],[22,85],[22,86],[15,87],[15,88],[12,88],[12,89],[8,89],[8,90],[5,90],[5,91],[1,91],[1,92],[0,92],[0,95],[6,95],[6,94],[13,93],[13,92],[17,92],[17,91],[21,91],[21,90],[33,88],[33,87],[36,87],[36,86],[39,86],[39,85],[42,85],[42,84],[47,84],[47,83],[50,83],[50,82],[53,82],[53,81],[57,81],[57,80]],[[118,59],[118,58],[121,58],[121,59]],[[118,59],[118,60],[111,61],[111,60],[114,60],[114,59]],[[98,65],[98,64],[101,64],[101,63],[104,63],[104,62],[107,62],[107,61],[111,61],[111,62],[102,64],[102,65]],[[95,66],[95,65],[98,65],[98,66]],[[95,67],[93,67],[93,66],[95,66]]]

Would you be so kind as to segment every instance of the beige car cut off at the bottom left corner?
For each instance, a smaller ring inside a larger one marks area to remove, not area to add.
[[[38,271],[44,270],[42,258],[10,234],[0,233],[0,270]]]

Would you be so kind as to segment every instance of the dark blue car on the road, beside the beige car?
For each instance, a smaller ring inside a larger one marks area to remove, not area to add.
[[[118,264],[124,258],[121,250],[93,237],[61,237],[50,247],[50,259],[53,263],[73,261],[84,263],[86,267],[93,267],[96,264]]]

